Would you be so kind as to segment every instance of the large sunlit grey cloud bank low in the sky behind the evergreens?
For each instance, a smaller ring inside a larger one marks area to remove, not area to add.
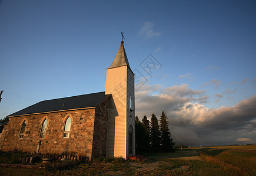
[[[152,94],[154,90],[155,94]],[[207,100],[205,90],[189,89],[188,84],[162,87],[145,85],[135,93],[135,112],[150,119],[162,110],[167,113],[169,128],[177,144],[227,145],[246,144],[238,138],[256,141],[256,95],[233,107],[208,109],[200,100]],[[193,103],[194,102],[194,103]]]

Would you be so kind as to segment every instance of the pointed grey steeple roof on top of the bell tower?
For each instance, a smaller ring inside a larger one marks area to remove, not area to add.
[[[112,62],[111,66],[109,66],[107,69],[112,69],[114,67],[120,67],[125,65],[127,65],[129,69],[131,69],[131,67],[129,66],[127,55],[125,53],[124,41],[121,41],[121,46],[118,49],[117,55],[115,56],[115,59]]]

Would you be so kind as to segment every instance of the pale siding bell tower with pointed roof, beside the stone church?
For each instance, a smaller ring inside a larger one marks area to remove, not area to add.
[[[107,68],[105,94],[109,103],[107,156],[135,155],[134,73],[129,66],[124,41],[111,66]]]

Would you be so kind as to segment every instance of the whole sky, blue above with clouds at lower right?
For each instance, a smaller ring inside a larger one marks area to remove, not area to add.
[[[135,97],[140,118],[166,111],[177,144],[256,143],[255,9],[255,1],[0,1],[0,118],[104,91],[124,31],[129,64],[147,79]],[[148,75],[149,54],[159,65]]]

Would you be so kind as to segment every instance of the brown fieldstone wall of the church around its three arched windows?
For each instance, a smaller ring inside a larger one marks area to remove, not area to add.
[[[103,102],[96,108],[96,123],[95,109],[11,117],[5,131],[2,150],[9,151],[18,149],[35,153],[38,141],[41,140],[39,153],[77,154],[87,156],[89,160],[91,160],[92,143],[94,139],[98,140],[94,142],[95,156],[105,155],[105,148],[107,147],[107,114],[105,112],[101,113],[101,109],[105,109],[106,107],[106,102]],[[71,117],[72,120],[71,131],[69,138],[63,138],[65,120],[68,116]],[[45,138],[39,138],[44,119],[48,120],[46,135]],[[19,132],[24,120],[26,120],[24,138],[19,139]],[[97,129],[94,129],[94,126],[96,126]]]

